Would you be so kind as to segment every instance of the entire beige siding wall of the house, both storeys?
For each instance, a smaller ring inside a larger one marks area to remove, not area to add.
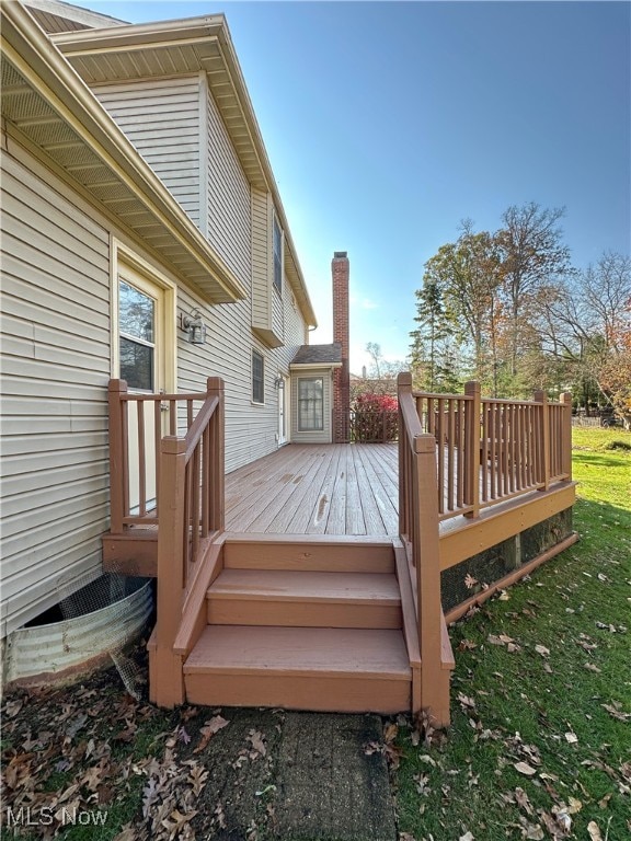
[[[271,229],[256,243],[253,191],[206,76],[104,84],[94,93],[249,295],[203,301],[31,141],[22,147],[18,134],[2,136],[2,636],[56,603],[59,587],[67,592],[101,571],[110,527],[107,382],[118,376],[118,243],[122,257],[129,252],[131,263],[137,257],[149,276],[173,286],[177,315],[202,311],[203,346],[174,331],[176,388],[203,391],[209,376],[225,379],[228,471],[278,446],[276,381],[289,376],[308,335],[286,276],[282,296],[269,283],[268,304],[283,344],[271,347],[252,330],[253,266],[259,260],[273,270]],[[252,401],[253,349],[264,358],[262,404]]]

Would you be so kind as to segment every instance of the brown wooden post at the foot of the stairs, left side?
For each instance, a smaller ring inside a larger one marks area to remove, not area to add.
[[[153,700],[159,706],[171,708],[184,702],[182,661],[181,657],[173,652],[173,643],[182,619],[185,544],[188,541],[188,523],[184,511],[186,441],[175,436],[162,438],[160,462],[158,613]]]

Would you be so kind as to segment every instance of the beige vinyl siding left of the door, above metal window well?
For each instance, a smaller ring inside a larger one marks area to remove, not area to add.
[[[108,233],[16,154],[2,152],[2,635],[99,572],[110,495]]]

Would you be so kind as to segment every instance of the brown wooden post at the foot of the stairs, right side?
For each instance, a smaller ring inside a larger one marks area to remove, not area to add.
[[[414,436],[414,556],[418,598],[421,649],[421,706],[444,725],[449,722],[449,677],[441,665],[443,606],[440,599],[440,546],[436,495],[436,439]]]

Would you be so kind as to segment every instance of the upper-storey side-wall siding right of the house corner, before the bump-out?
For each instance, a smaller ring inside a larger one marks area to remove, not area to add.
[[[206,235],[239,280],[252,285],[252,224],[250,184],[217,103],[209,90],[207,106],[207,214]],[[250,323],[250,313],[248,323]]]

